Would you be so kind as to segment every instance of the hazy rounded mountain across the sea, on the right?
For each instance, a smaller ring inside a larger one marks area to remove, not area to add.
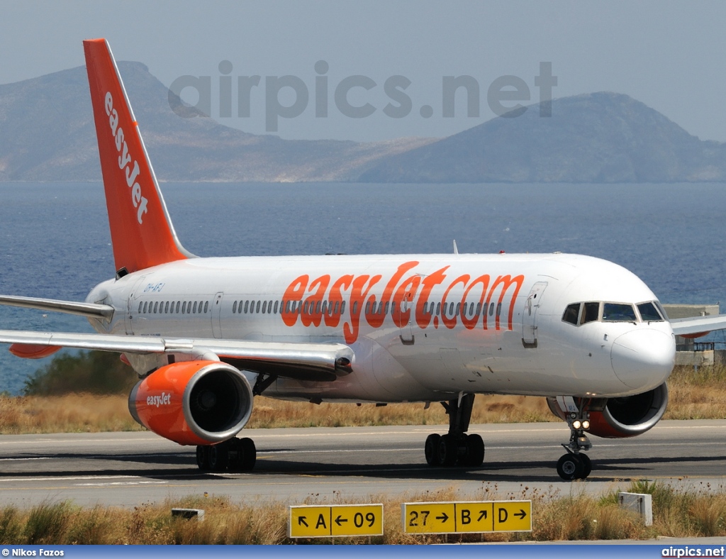
[[[615,93],[531,105],[460,134],[371,163],[372,182],[726,181],[726,144],[703,142]]]

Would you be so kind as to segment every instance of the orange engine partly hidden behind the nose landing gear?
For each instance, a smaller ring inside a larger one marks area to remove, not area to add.
[[[575,399],[581,405],[582,399]],[[547,398],[553,414],[566,419],[554,398]],[[590,413],[590,429],[587,433],[603,438],[634,437],[648,431],[666,412],[668,386],[661,384],[648,392],[624,398],[592,399],[584,404]]]

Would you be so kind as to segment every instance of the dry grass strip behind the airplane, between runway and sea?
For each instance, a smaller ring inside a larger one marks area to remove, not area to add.
[[[677,367],[669,380],[664,419],[726,419],[726,367]],[[310,404],[258,396],[250,428],[342,427],[354,425],[441,425],[448,423],[438,403]],[[542,397],[477,396],[473,424],[558,421]],[[0,433],[82,433],[142,429],[129,415],[126,396],[0,397]]]

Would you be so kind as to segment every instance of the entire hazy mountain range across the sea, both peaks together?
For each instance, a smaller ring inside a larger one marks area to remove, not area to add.
[[[170,181],[726,181],[726,144],[703,142],[627,95],[555,99],[460,134],[390,142],[284,140],[222,126],[139,62],[119,70],[157,176]],[[181,103],[176,99],[177,103]],[[0,85],[0,181],[100,180],[86,69]]]

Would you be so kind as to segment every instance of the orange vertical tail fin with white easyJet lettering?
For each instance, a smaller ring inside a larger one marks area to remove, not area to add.
[[[83,41],[117,274],[193,256],[181,246],[105,39]]]

